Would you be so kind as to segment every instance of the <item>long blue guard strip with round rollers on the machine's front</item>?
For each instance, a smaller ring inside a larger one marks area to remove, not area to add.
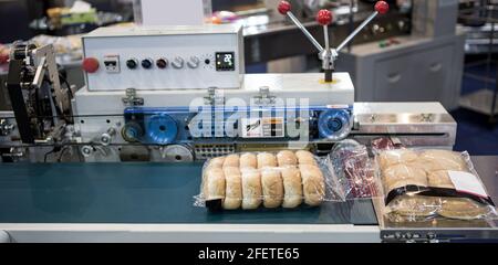
[[[289,141],[298,139],[299,136],[291,136],[291,127],[287,126],[291,123],[309,121],[307,135],[310,141],[338,141],[346,138],[352,127],[351,106],[293,109],[212,107],[210,110],[191,113],[186,107],[126,108],[122,135],[126,141],[146,145],[191,144],[194,141],[211,144],[251,140]],[[305,113],[307,117],[303,117],[302,113]],[[203,116],[211,118],[211,120],[196,124]],[[260,126],[260,131],[248,134],[247,130],[253,129],[255,126]],[[229,128],[234,128],[236,134],[230,134]],[[203,135],[194,134],[193,129],[201,130]]]

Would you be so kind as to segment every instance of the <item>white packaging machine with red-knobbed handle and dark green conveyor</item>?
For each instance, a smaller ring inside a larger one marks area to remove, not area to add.
[[[210,213],[193,204],[203,161],[221,155],[299,148],[326,156],[344,139],[369,145],[378,137],[411,147],[452,149],[457,125],[440,104],[357,103],[349,74],[334,71],[338,52],[387,10],[378,1],[357,31],[331,49],[300,26],[283,1],[279,11],[317,47],[323,74],[245,74],[237,26],[100,29],[83,38],[86,86],[72,91],[60,82],[51,46],[18,43],[8,78],[13,112],[0,113],[0,239],[452,239],[455,234],[446,232],[454,229],[445,227],[454,224],[391,226],[370,199],[299,211]],[[318,15],[325,40],[331,19],[326,10]],[[476,158],[477,169],[485,170],[479,173],[488,188],[495,188],[489,167],[497,163],[486,159]],[[452,227],[475,233],[452,240],[497,239],[491,223],[467,224]]]

